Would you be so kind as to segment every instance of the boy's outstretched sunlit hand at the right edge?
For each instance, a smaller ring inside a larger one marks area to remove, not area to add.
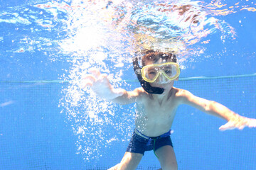
[[[220,126],[219,130],[233,130],[235,128],[242,130],[245,127],[256,128],[256,119],[237,115],[235,118],[230,119],[225,125]]]

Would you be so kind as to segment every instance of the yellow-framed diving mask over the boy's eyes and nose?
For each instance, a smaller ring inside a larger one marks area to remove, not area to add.
[[[176,62],[166,62],[163,64],[150,64],[142,67],[142,79],[153,83],[161,75],[157,83],[165,84],[174,80],[180,74],[179,66]]]

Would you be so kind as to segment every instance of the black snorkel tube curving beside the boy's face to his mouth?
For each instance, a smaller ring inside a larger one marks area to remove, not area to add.
[[[139,79],[139,83],[141,84],[142,88],[148,92],[149,94],[163,94],[164,89],[161,89],[159,87],[152,87],[149,82],[144,81],[142,79],[142,67],[139,67],[139,61],[138,57],[132,57],[132,64],[134,66],[134,72],[137,75],[137,78]]]

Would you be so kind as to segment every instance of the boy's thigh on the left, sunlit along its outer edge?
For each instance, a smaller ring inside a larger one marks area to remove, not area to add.
[[[143,154],[137,154],[132,152],[125,152],[121,163],[119,164],[119,169],[133,170],[139,165],[142,160]]]

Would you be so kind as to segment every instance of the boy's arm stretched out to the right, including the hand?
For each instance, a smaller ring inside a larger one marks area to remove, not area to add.
[[[198,108],[204,113],[215,115],[219,118],[227,120],[228,123],[220,126],[220,130],[233,130],[235,128],[242,130],[246,126],[249,128],[256,128],[256,119],[246,118],[238,115],[237,113],[230,111],[230,109],[220,103],[217,103],[215,101],[208,101],[204,98],[199,98],[191,94],[189,91],[185,90],[181,90],[178,93],[178,96],[181,97],[181,102],[184,104],[188,104],[189,106]]]

